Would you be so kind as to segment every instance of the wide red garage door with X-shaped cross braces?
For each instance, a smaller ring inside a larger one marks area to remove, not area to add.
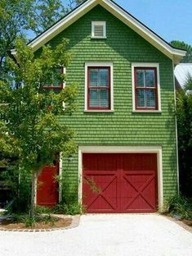
[[[155,153],[84,153],[83,205],[87,213],[157,211]]]

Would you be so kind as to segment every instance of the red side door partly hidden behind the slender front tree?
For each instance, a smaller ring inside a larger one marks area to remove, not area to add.
[[[52,207],[59,203],[59,185],[56,176],[59,174],[59,164],[43,167],[38,176],[37,204]]]

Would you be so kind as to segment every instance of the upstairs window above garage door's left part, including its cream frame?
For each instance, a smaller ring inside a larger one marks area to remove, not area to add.
[[[113,64],[88,63],[85,68],[85,110],[113,111]]]

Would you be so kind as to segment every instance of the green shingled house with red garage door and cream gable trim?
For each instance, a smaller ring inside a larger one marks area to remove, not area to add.
[[[39,53],[63,38],[73,52],[66,84],[79,86],[77,111],[60,122],[76,130],[78,152],[44,168],[37,203],[59,200],[48,181],[58,171],[87,213],[161,210],[178,191],[173,69],[185,51],[110,0],[83,2],[29,46]]]

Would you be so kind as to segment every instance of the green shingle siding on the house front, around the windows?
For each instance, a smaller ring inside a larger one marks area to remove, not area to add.
[[[106,21],[107,39],[91,39],[92,21]],[[172,61],[104,8],[97,6],[51,40],[69,39],[73,59],[67,84],[78,84],[78,109],[60,122],[76,130],[78,145],[162,145],[163,193],[176,193],[176,128]],[[114,63],[114,113],[84,112],[85,62]],[[132,62],[158,62],[162,113],[132,112]],[[63,164],[78,183],[78,153]]]

